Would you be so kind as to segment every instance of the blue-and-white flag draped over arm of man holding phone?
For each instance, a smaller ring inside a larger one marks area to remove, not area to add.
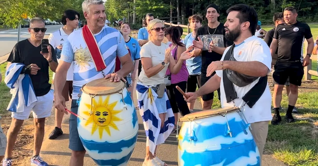
[[[30,75],[20,74],[24,66],[22,63],[12,63],[5,73],[4,83],[12,94],[8,111],[23,112],[24,105],[28,107],[37,101]]]

